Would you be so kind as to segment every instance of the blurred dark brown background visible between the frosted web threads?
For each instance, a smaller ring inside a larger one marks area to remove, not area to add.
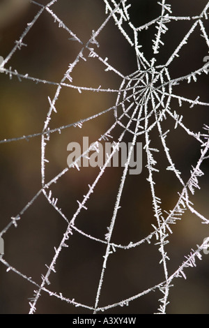
[[[46,4],[47,0],[39,0]],[[169,1],[175,16],[199,15],[208,1],[175,0]],[[161,8],[157,1],[130,1],[130,17],[134,26],[141,26],[158,17]],[[0,1],[0,56],[6,58],[19,40],[27,24],[33,20],[40,7],[29,0],[1,0]],[[54,3],[52,10],[63,20],[84,43],[89,40],[92,30],[97,30],[105,18],[105,6],[102,0],[59,0]],[[164,46],[157,55],[157,64],[164,64],[187,31],[192,22],[180,21],[169,23],[169,31],[163,36]],[[208,23],[205,24],[209,32]],[[128,26],[124,26],[130,33]],[[143,46],[146,59],[153,57],[152,40],[157,33],[156,27],[150,27],[139,34],[139,43]],[[60,82],[72,61],[75,60],[82,45],[68,40],[67,31],[59,28],[59,24],[47,13],[42,13],[36,24],[24,38],[21,50],[17,50],[11,57],[6,68],[17,70],[18,73],[29,74],[42,80]],[[98,36],[100,47],[98,54],[123,75],[130,75],[137,70],[134,48],[130,47],[110,20]],[[203,58],[208,55],[208,47],[201,36],[200,29],[196,29],[189,42],[180,51],[169,72],[171,78],[187,75],[201,68]],[[104,72],[104,66],[98,59],[88,58],[80,61],[73,70],[73,84],[85,87],[101,85],[103,89],[118,89],[122,78],[113,71]],[[48,96],[53,99],[56,86],[42,84],[32,80],[20,82],[17,77],[10,79],[9,75],[0,74],[0,140],[5,138],[22,137],[40,133],[49,110]],[[187,84],[182,82],[173,87],[173,93],[208,102],[208,76],[199,77],[198,82]],[[57,114],[52,114],[50,128],[59,128],[72,124],[79,119],[91,117],[102,110],[114,106],[116,93],[102,93],[62,88],[56,101]],[[208,108],[183,103],[179,107],[178,101],[171,102],[171,109],[183,114],[183,122],[194,132],[203,133],[203,124],[208,124]],[[60,133],[53,133],[46,148],[46,181],[59,174],[67,166],[67,145],[69,142],[80,142],[84,136],[93,142],[114,124],[112,111],[86,122],[82,128],[67,128]],[[200,156],[200,144],[189,137],[182,128],[174,129],[175,122],[167,117],[162,123],[163,131],[171,131],[167,137],[167,144],[171,151],[176,168],[182,172],[181,177],[187,181],[192,165],[196,165]],[[114,138],[122,132],[117,127]],[[153,129],[150,133],[152,147],[158,148],[156,154],[157,169],[155,174],[156,194],[162,199],[162,209],[169,211],[177,200],[181,186],[174,174],[167,171],[167,158],[160,141],[159,132]],[[125,135],[125,141],[130,142],[132,135]],[[139,142],[145,144],[144,136]],[[33,137],[26,140],[0,144],[0,176],[1,176],[1,206],[0,231],[10,222],[12,216],[22,211],[24,206],[41,188],[40,156],[41,138]],[[201,190],[196,190],[191,197],[194,208],[208,217],[208,161],[201,167],[205,176],[199,179]],[[58,197],[58,207],[70,220],[77,209],[77,200],[82,201],[88,191],[88,184],[93,184],[99,172],[98,168],[84,167],[79,172],[70,170],[64,177],[52,186],[53,197]],[[116,195],[121,181],[123,168],[109,167],[100,179],[91,198],[88,200],[88,211],[81,211],[77,217],[76,226],[93,237],[104,239],[107,226],[116,202]],[[153,204],[146,168],[146,153],[143,153],[143,170],[138,176],[128,175],[121,199],[121,211],[118,212],[116,225],[111,241],[116,244],[127,245],[139,241],[153,231],[156,225],[153,216]],[[49,205],[44,195],[40,195],[26,210],[18,223],[3,234],[5,242],[4,258],[17,270],[31,276],[33,281],[41,283],[41,274],[45,274],[45,264],[50,264],[54,256],[54,246],[59,246],[67,225],[59,214]],[[191,248],[201,244],[209,236],[208,227],[201,224],[201,220],[187,211],[181,221],[173,225],[173,234],[169,236],[167,253],[171,260],[168,262],[169,274],[185,260]],[[152,240],[153,241],[153,240]],[[82,304],[94,306],[102,269],[102,256],[105,246],[75,232],[69,240],[69,248],[65,248],[56,262],[56,274],[51,274],[47,286],[54,292],[62,292],[65,297],[75,299]],[[187,280],[183,278],[173,281],[169,295],[168,313],[208,313],[209,283],[208,256],[198,262],[195,269],[187,269]],[[163,267],[160,253],[154,241],[152,244],[127,251],[118,250],[109,257],[107,270],[100,297],[99,306],[113,304],[137,295],[139,292],[164,281]],[[6,273],[6,267],[0,263],[0,313],[28,313],[29,298],[33,297],[36,289],[31,283],[12,271]],[[150,292],[148,295],[130,302],[130,305],[112,308],[107,313],[155,313],[159,306],[160,292]],[[91,313],[84,308],[75,308],[55,297],[49,297],[42,292],[37,304],[37,313]]]

